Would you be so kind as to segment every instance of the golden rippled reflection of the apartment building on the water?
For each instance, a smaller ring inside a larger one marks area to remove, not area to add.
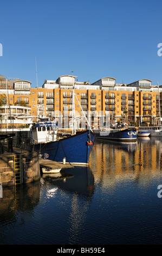
[[[96,140],[89,162],[95,172],[95,182],[133,179],[147,184],[154,175],[160,178],[161,146],[162,138],[138,138],[136,143]]]

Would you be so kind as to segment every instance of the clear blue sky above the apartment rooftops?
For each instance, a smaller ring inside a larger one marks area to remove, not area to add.
[[[162,84],[161,10],[161,0],[2,1],[0,74],[36,87],[36,57],[38,86],[72,71]]]

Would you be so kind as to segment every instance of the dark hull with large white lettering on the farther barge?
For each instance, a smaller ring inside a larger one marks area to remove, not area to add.
[[[137,130],[135,128],[128,128],[124,130],[110,130],[107,135],[103,133],[96,134],[96,138],[109,139],[112,141],[132,142],[137,141]]]

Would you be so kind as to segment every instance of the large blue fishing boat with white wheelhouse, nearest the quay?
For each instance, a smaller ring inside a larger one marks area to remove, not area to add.
[[[78,132],[58,139],[57,128],[51,121],[40,121],[31,127],[33,150],[43,159],[71,164],[88,165],[89,155],[94,144],[94,134],[90,130]]]

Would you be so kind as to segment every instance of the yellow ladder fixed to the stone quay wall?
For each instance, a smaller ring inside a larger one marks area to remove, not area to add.
[[[22,184],[22,157],[14,156],[14,184]]]

